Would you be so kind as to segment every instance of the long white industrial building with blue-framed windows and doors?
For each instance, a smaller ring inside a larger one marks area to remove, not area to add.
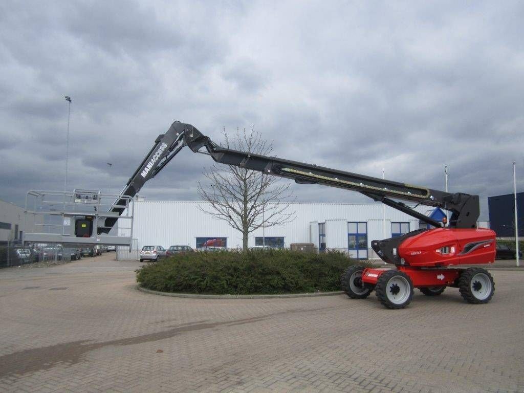
[[[134,207],[133,248],[145,245],[189,245],[199,248],[206,241],[219,239],[227,248],[242,247],[242,233],[222,220],[199,209],[209,210],[206,202],[138,200]],[[440,209],[418,206],[420,213],[436,220]],[[250,233],[248,246],[265,244],[289,247],[291,243],[313,243],[317,248],[337,249],[356,258],[376,258],[370,248],[373,240],[407,233],[421,227],[418,219],[378,203],[292,203],[293,221],[261,228]],[[122,221],[122,220],[120,220]],[[118,234],[129,235],[126,222],[118,223]],[[480,223],[487,226],[487,223]]]

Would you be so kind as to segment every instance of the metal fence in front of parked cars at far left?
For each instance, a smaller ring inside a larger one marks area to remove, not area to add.
[[[34,263],[68,262],[77,259],[77,248],[64,248],[59,245],[0,245],[0,268],[21,266]]]

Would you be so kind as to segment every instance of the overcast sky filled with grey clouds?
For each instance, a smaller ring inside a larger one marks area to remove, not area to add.
[[[487,196],[524,188],[524,3],[0,3],[0,198],[121,190],[174,120],[274,154]],[[106,163],[113,163],[109,167]],[[189,149],[140,194],[196,200]],[[292,185],[299,201],[370,201]]]

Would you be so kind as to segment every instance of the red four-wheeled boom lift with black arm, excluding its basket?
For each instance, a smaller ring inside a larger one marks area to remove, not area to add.
[[[211,156],[216,162],[292,179],[301,184],[323,184],[360,192],[375,201],[416,217],[435,228],[417,230],[402,236],[373,241],[372,248],[395,269],[351,267],[342,276],[342,287],[352,299],[363,299],[375,290],[377,298],[390,309],[406,307],[419,288],[427,296],[441,294],[446,287],[459,288],[470,303],[487,303],[495,285],[482,268],[455,265],[491,264],[495,260],[495,232],[476,228],[478,195],[447,193],[425,187],[364,176],[308,163],[236,151],[215,144],[190,124],[174,122],[136,169],[110,209],[99,235],[107,233],[146,181],[155,177],[178,152],[188,146],[193,152]],[[398,200],[439,207],[451,212],[447,227]]]

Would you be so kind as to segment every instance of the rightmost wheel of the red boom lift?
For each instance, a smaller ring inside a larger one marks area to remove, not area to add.
[[[493,297],[495,282],[486,269],[472,267],[460,275],[459,291],[468,303],[483,304]]]

